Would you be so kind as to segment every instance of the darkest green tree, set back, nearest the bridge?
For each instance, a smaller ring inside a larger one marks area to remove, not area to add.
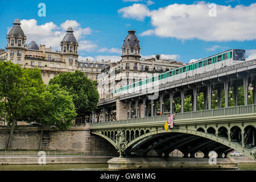
[[[84,73],[80,71],[60,73],[49,84],[58,84],[60,88],[67,90],[72,95],[78,117],[90,114],[97,109],[100,96],[96,88],[96,82],[88,79]]]

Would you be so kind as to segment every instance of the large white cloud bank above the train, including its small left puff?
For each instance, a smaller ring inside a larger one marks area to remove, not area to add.
[[[205,41],[243,41],[256,39],[256,3],[236,7],[217,5],[217,17],[209,16],[209,3],[193,5],[173,4],[149,10],[146,5],[135,3],[118,10],[124,18],[144,20],[151,18],[154,29],[141,35],[156,35],[162,38]]]

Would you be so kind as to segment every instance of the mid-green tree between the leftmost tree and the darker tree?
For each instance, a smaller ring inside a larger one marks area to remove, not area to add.
[[[27,122],[35,121],[42,125],[39,140],[39,150],[41,150],[43,131],[46,126],[52,127],[53,130],[67,130],[68,127],[73,126],[73,120],[77,114],[72,96],[59,88],[59,85],[48,85],[46,91],[40,94],[36,108],[24,119]]]

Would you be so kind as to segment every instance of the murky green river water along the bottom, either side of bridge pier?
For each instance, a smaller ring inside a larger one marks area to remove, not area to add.
[[[237,170],[256,171],[256,163],[238,164]],[[6,165],[0,171],[108,171],[108,164]]]

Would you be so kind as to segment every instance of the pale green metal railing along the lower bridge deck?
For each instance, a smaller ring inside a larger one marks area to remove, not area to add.
[[[210,109],[210,110],[191,111],[188,113],[176,113],[176,114],[174,114],[174,120],[190,119],[190,118],[207,118],[207,117],[217,117],[217,116],[222,116],[222,115],[238,115],[238,114],[250,114],[250,113],[256,113],[256,104],[245,105],[245,106],[236,106],[236,107],[224,107],[224,108]],[[154,117],[92,123],[92,125],[90,127],[167,121],[167,118],[168,118],[168,115],[157,115]]]

